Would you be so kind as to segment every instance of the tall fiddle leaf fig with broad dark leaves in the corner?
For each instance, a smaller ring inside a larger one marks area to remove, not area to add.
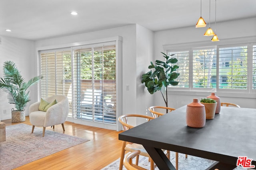
[[[166,88],[169,85],[177,86],[179,82],[175,79],[178,78],[180,73],[176,72],[179,66],[175,63],[178,62],[178,59],[171,57],[174,54],[162,54],[164,57],[164,61],[156,60],[154,63],[151,61],[151,64],[148,66],[150,71],[145,74],[142,74],[141,82],[145,84],[150,94],[154,94],[155,92],[160,91],[164,99],[164,103],[166,104],[166,107],[168,107],[168,90],[166,89],[166,94],[164,97],[164,94],[162,92],[162,86]],[[153,69],[153,72],[151,69]],[[166,110],[166,113],[167,111],[168,110]]]

